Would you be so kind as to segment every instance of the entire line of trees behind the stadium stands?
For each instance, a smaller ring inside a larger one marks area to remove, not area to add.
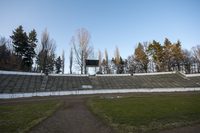
[[[85,60],[94,58],[94,50],[90,45],[90,33],[78,29],[72,36],[69,50],[69,72],[88,73]],[[10,39],[0,38],[0,69],[43,73],[64,73],[65,56],[56,56],[56,43],[45,30],[40,42],[33,29],[29,33],[22,26],[16,28]],[[114,56],[109,58],[98,52],[99,70],[102,74],[121,73],[148,73],[183,71],[185,73],[200,73],[200,46],[191,50],[184,50],[181,42],[171,42],[165,39],[161,44],[158,41],[138,43],[135,51],[128,58],[123,59],[116,47]]]

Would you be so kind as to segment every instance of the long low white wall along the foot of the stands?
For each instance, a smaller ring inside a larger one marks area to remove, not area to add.
[[[63,96],[63,95],[88,95],[88,94],[108,94],[108,93],[137,93],[137,92],[187,92],[200,91],[200,88],[153,88],[153,89],[104,89],[104,90],[75,90],[75,91],[54,91],[54,92],[34,92],[34,93],[13,93],[0,94],[0,99],[11,99],[33,96]]]

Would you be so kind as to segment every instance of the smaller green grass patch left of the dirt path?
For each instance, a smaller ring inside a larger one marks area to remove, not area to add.
[[[43,101],[0,105],[0,132],[24,133],[50,116],[60,101]]]

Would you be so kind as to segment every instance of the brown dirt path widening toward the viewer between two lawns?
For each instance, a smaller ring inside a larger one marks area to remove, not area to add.
[[[53,116],[33,128],[30,133],[112,133],[112,129],[91,114],[86,98],[66,99]]]

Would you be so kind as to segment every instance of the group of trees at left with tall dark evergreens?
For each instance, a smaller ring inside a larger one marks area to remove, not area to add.
[[[55,41],[50,38],[47,30],[42,33],[41,43],[38,43],[35,29],[26,33],[20,25],[10,39],[0,38],[0,69],[64,73],[64,53],[62,58],[56,58],[55,50]]]

